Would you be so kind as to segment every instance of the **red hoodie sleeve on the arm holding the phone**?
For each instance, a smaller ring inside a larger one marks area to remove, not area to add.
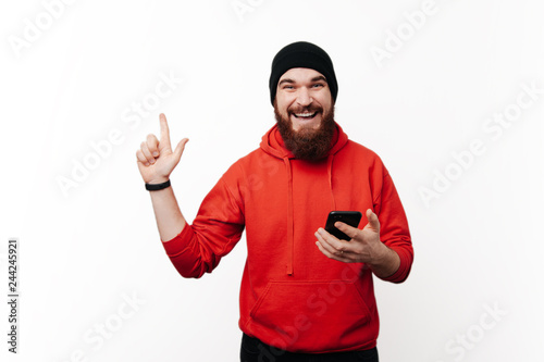
[[[410,274],[413,262],[413,248],[405,210],[393,179],[385,167],[383,167],[382,175],[382,187],[373,202],[374,212],[380,220],[380,238],[383,244],[396,251],[400,258],[398,270],[383,279],[392,283],[403,283]]]

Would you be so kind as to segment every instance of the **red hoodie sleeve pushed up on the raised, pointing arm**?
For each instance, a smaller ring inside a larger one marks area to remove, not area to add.
[[[234,164],[203,199],[191,225],[185,224],[163,247],[184,277],[199,278],[211,273],[222,257],[238,242],[244,232],[243,202]]]

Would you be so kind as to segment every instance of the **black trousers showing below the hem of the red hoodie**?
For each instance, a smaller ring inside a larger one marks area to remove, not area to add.
[[[240,362],[378,362],[378,349],[336,353],[293,353],[242,336]]]

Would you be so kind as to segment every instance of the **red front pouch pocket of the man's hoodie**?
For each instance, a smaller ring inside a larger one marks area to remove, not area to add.
[[[361,295],[344,280],[271,282],[250,317],[264,342],[292,351],[342,350],[376,337]]]

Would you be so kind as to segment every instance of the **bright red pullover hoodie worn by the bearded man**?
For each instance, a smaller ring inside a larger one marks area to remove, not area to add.
[[[240,239],[247,261],[240,287],[240,329],[295,352],[373,348],[379,332],[372,272],[363,263],[326,258],[313,235],[333,210],[372,209],[382,242],[400,257],[385,280],[401,283],[413,260],[408,222],[380,158],[337,126],[320,162],[297,160],[277,128],[234,163],[202,201],[193,225],[163,246],[184,277],[218,266]],[[363,216],[359,228],[367,224]]]

